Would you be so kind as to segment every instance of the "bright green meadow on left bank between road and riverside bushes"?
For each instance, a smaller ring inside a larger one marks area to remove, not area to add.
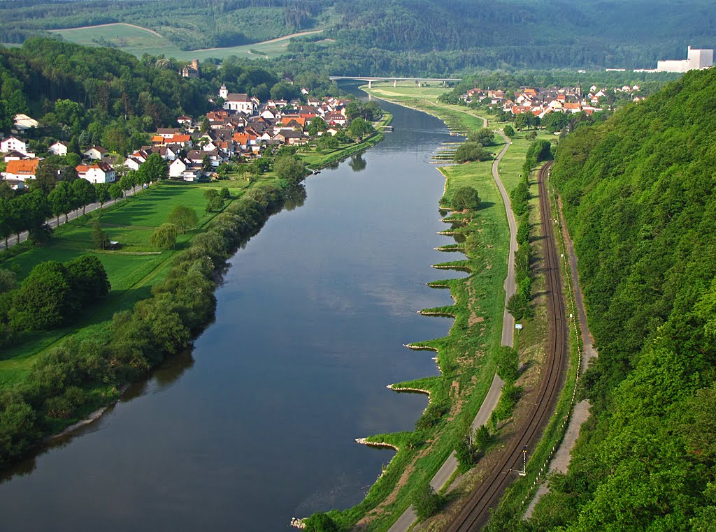
[[[223,181],[211,184],[163,183],[131,196],[107,211],[95,211],[79,220],[62,225],[54,232],[52,242],[31,247],[14,255],[14,250],[0,253],[0,267],[17,272],[23,279],[32,268],[46,260],[66,262],[80,255],[95,255],[107,270],[112,290],[105,305],[88,310],[79,322],[59,330],[23,333],[14,345],[0,352],[0,387],[21,380],[34,358],[70,334],[80,338],[107,334],[107,321],[115,312],[131,308],[150,295],[151,287],[164,279],[170,259],[191,238],[211,222],[216,213],[205,211],[204,191],[209,187],[228,187],[232,196],[241,194],[246,182]],[[177,250],[160,252],[150,245],[153,230],[166,222],[176,205],[195,210],[199,225],[177,237]],[[92,222],[97,221],[110,240],[120,242],[114,251],[96,250],[92,244]],[[14,255],[7,257],[7,255]]]

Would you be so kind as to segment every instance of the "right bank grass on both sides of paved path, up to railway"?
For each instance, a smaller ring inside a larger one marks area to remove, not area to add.
[[[364,87],[366,89],[366,87]],[[370,94],[388,99],[396,104],[427,112],[448,124],[451,131],[469,134],[485,126],[482,117],[471,109],[448,106],[435,102],[442,88],[387,87],[376,85]],[[497,153],[503,147],[490,147]],[[522,164],[530,142],[521,135],[512,139],[510,149],[500,163],[500,177],[510,191],[519,182]],[[342,513],[333,513],[344,526],[365,526],[367,530],[384,531],[390,528],[397,516],[410,505],[412,498],[423,489],[435,475],[442,463],[452,453],[465,430],[470,426],[480,408],[495,373],[493,353],[500,345],[502,315],[505,304],[503,281],[507,272],[509,231],[503,201],[491,172],[492,162],[471,162],[440,168],[445,175],[445,194],[441,205],[449,205],[455,189],[471,186],[478,189],[482,200],[475,212],[453,213],[445,218],[446,230],[456,235],[465,259],[443,262],[448,267],[470,272],[468,277],[457,280],[437,280],[429,285],[448,288],[454,305],[425,309],[434,315],[453,315],[455,323],[445,338],[412,343],[411,348],[430,349],[437,352],[441,375],[410,382],[397,383],[394,388],[425,390],[430,403],[418,420],[412,433],[382,434],[367,438],[368,442],[387,443],[399,451],[369,491],[364,501]],[[536,182],[532,183],[536,189]],[[531,200],[531,223],[538,227],[538,197]],[[534,242],[538,242],[535,235]],[[541,252],[536,260],[541,259]],[[536,275],[533,290],[543,290],[544,279]],[[541,289],[540,289],[541,287]],[[523,320],[523,330],[516,335],[516,346],[521,350],[521,360],[531,363],[518,385],[526,388],[538,378],[540,360],[544,358],[546,339],[546,309],[544,297],[536,300],[536,314],[531,320]],[[503,420],[490,430],[497,430],[501,438],[508,438],[514,423]],[[553,430],[550,430],[552,433]],[[460,507],[460,499],[490,466],[490,456],[480,460],[457,482],[454,489],[445,489],[447,506],[445,513],[427,521],[428,530],[440,530],[449,521],[450,514]],[[450,486],[450,483],[448,483]]]

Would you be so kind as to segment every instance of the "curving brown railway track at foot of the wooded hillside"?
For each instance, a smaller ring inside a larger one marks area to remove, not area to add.
[[[550,166],[551,162],[545,164],[538,175],[549,330],[547,357],[543,365],[536,402],[533,403],[517,433],[500,451],[498,464],[493,468],[490,476],[475,488],[463,510],[446,528],[448,532],[478,531],[485,526],[490,516],[490,508],[494,508],[505,488],[517,476],[515,471],[522,468],[523,449],[527,448],[529,452],[538,443],[541,432],[554,410],[561,388],[563,369],[567,360],[568,324],[559,274],[559,254],[547,196],[546,178]],[[527,467],[529,468],[529,463]]]

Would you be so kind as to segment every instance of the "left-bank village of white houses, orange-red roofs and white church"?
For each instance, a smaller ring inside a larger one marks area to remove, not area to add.
[[[307,89],[301,89],[301,93],[305,102],[299,99],[259,102],[248,94],[228,92],[226,85],[222,85],[211,100],[215,105],[213,111],[198,119],[177,117],[177,127],[157,129],[150,144],[134,152],[112,154],[101,146],[83,147],[79,153],[82,164],[75,167],[77,177],[93,184],[112,183],[120,174],[138,170],[151,154],[159,154],[168,165],[170,179],[198,182],[221,179],[232,162],[252,162],[281,146],[315,144],[323,136],[335,137],[322,142],[323,147],[352,142],[344,132],[349,122],[346,112],[349,99],[319,99],[311,97]],[[28,179],[36,176],[43,157],[30,150],[22,133],[39,125],[37,120],[19,114],[11,134],[0,141],[6,163],[1,174],[12,189],[25,188]],[[358,137],[367,132],[364,129]],[[71,151],[69,142],[57,140],[49,146],[48,154],[67,157]]]

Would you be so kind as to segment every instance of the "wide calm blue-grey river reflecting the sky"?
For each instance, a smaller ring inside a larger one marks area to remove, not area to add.
[[[4,531],[285,531],[293,516],[359,503],[390,450],[354,438],[411,430],[424,395],[386,385],[435,375],[403,347],[448,333],[426,282],[457,255],[436,232],[454,140],[437,119],[382,103],[394,133],[306,181],[231,259],[216,322],[191,353],[106,415],[0,478]]]

